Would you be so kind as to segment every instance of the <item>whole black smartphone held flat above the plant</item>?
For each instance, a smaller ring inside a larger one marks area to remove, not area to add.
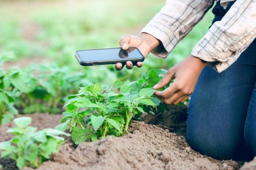
[[[80,50],[75,52],[75,57],[82,66],[125,64],[127,61],[136,64],[137,62],[143,62],[145,59],[136,47],[129,47],[127,50],[122,48]]]

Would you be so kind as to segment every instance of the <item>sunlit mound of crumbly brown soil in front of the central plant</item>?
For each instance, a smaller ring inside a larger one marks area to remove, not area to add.
[[[134,121],[124,137],[107,136],[82,143],[74,152],[60,152],[39,170],[217,170],[238,169],[235,161],[219,161],[193,151],[182,136]]]

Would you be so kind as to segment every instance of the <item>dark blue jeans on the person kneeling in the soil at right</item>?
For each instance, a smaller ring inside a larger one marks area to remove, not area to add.
[[[188,107],[187,141],[216,159],[256,155],[256,41],[222,73],[200,74]]]

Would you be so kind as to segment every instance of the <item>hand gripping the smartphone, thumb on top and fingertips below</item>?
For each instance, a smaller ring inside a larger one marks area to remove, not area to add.
[[[119,45],[124,50],[127,50],[129,47],[137,47],[146,58],[149,52],[159,45],[159,40],[147,33],[141,33],[138,36],[125,34],[121,37]],[[142,62],[137,62],[137,67],[142,67]],[[115,70],[120,71],[122,68],[122,63],[115,64]],[[126,62],[126,68],[133,68],[131,61]]]

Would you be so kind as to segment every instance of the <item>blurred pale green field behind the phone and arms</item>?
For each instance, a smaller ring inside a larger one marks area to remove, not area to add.
[[[0,55],[13,58],[2,67],[56,63],[90,70],[91,78],[105,73],[99,80],[103,83],[107,75],[115,79],[139,70],[136,79],[149,69],[168,69],[188,56],[207,32],[210,11],[166,60],[150,54],[142,68],[117,72],[114,65],[82,68],[74,57],[81,49],[117,47],[122,34],[137,35],[164,4],[165,0],[1,0]]]

